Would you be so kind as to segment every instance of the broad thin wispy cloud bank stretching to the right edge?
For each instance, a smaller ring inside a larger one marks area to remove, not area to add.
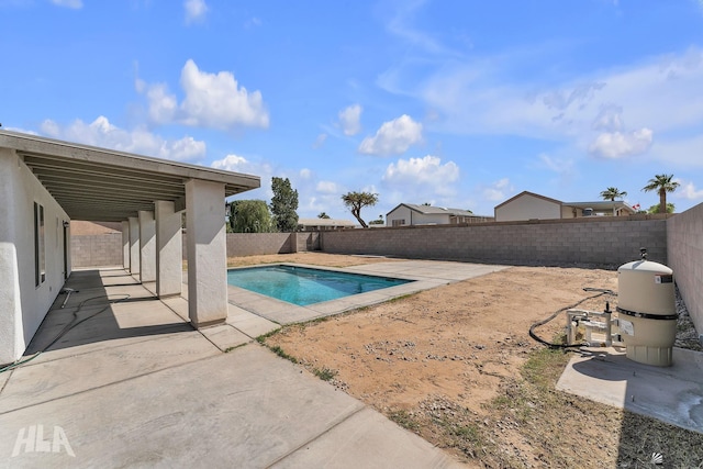
[[[405,40],[408,45],[414,43]],[[568,53],[568,47],[557,52]],[[555,51],[549,46],[521,46],[490,57],[447,58],[446,52],[425,52],[423,64],[429,66],[417,67],[417,58],[399,60],[380,74],[378,83],[421,100],[436,113],[438,119],[427,124],[433,131],[518,135],[580,150],[599,134],[612,133],[595,149],[610,138],[624,141],[621,146],[626,144],[627,152],[640,152],[648,147],[645,129],[656,132],[658,139],[673,141],[703,125],[703,51],[695,46],[547,85],[521,70],[527,63],[531,69],[553,63]]]

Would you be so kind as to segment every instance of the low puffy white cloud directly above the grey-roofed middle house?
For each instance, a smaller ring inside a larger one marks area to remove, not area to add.
[[[406,196],[453,193],[451,183],[459,179],[459,167],[454,161],[427,155],[423,158],[399,159],[386,168],[381,180],[390,187],[402,188]]]

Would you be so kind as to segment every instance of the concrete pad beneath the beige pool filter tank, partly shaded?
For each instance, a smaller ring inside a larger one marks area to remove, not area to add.
[[[673,349],[673,366],[628,359],[623,349],[595,348],[573,357],[557,389],[703,433],[703,353]]]

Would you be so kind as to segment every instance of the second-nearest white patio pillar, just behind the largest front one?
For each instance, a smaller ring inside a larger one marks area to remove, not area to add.
[[[183,241],[180,212],[174,202],[157,200],[156,206],[156,294],[180,295],[183,283]]]

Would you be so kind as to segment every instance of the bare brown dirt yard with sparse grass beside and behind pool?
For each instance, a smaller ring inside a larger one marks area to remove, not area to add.
[[[389,259],[305,253],[231,265],[272,261]],[[512,267],[287,326],[263,342],[468,467],[650,467],[655,451],[663,467],[701,467],[703,435],[555,390],[570,355],[528,330],[579,302],[595,311],[615,305],[615,297],[583,288],[616,290],[616,272]],[[537,333],[551,340],[562,330],[559,315]]]

